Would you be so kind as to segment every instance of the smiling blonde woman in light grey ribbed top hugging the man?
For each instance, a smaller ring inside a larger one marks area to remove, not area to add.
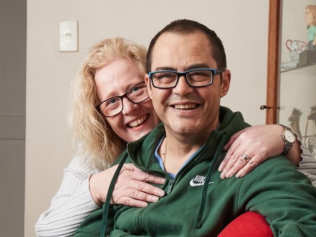
[[[63,182],[50,209],[36,223],[38,236],[73,234],[78,225],[105,201],[116,170],[116,166],[108,168],[108,164],[123,151],[126,142],[139,139],[159,123],[142,84],[146,53],[145,47],[123,38],[106,39],[90,49],[72,86],[69,115],[70,128],[81,145],[77,156],[65,169]],[[140,94],[134,96],[135,93]],[[111,111],[106,110],[108,106],[113,106]],[[268,158],[267,150],[272,151],[270,157],[280,154],[284,147],[281,130],[278,125],[252,127],[246,129],[243,136],[233,137],[225,147],[228,149],[236,139],[223,161],[223,178],[236,174],[241,168],[239,174],[245,175],[254,164]],[[240,156],[240,150],[246,150],[248,144],[245,141],[252,143],[247,155],[253,157],[254,164],[248,163],[244,167],[235,163],[234,157]],[[269,143],[262,146],[265,141]],[[296,146],[290,152],[292,156],[300,152],[298,142]],[[291,157],[290,153],[289,158],[298,165],[299,155]],[[313,158],[304,157],[303,162],[306,159]],[[143,207],[164,195],[162,190],[146,183],[163,183],[164,179],[143,173],[133,165],[124,164],[119,177],[111,199],[113,204]]]

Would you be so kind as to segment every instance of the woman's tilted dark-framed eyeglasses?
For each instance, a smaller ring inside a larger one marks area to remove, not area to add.
[[[148,99],[149,94],[146,84],[144,82],[140,83],[126,91],[126,93],[122,96],[113,97],[105,100],[99,107],[101,112],[106,117],[111,117],[120,113],[123,110],[123,97],[125,96],[135,104]]]

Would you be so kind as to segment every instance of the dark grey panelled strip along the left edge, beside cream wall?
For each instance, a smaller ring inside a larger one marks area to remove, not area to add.
[[[0,236],[24,232],[26,1],[0,1]]]

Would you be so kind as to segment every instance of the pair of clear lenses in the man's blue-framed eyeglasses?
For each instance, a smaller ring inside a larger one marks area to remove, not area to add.
[[[213,74],[208,70],[193,71],[186,74],[191,86],[210,85],[213,80]],[[168,88],[176,86],[178,75],[172,72],[160,72],[153,74],[154,86],[158,88]]]

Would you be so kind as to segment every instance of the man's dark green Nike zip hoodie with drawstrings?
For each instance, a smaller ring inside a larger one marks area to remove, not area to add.
[[[110,237],[217,236],[233,219],[253,211],[266,217],[275,236],[315,237],[316,189],[285,157],[268,159],[243,178],[220,178],[217,169],[226,154],[223,146],[232,134],[249,126],[240,112],[233,113],[224,107],[220,109],[220,121],[220,127],[211,132],[202,149],[179,170],[175,179],[161,170],[154,157],[158,141],[165,134],[163,124],[129,143],[117,163],[133,163],[144,171],[166,177],[163,185],[157,185],[166,195],[144,208],[109,207],[109,191],[103,210],[91,214],[75,236],[100,236],[102,215],[109,208],[108,218],[103,217],[106,231],[104,225],[101,236],[104,232],[110,233]],[[112,185],[116,178],[113,179]]]

